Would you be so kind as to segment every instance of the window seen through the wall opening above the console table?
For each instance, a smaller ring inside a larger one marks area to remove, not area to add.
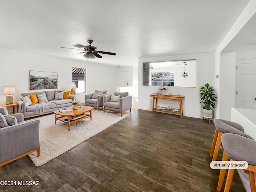
[[[151,85],[174,86],[174,72],[152,72]]]

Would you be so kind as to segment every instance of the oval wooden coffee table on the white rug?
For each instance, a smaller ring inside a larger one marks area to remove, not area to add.
[[[89,106],[81,106],[81,108],[78,108],[77,110],[73,110],[72,106],[71,107],[66,107],[67,109],[70,109],[72,111],[70,112],[66,112],[66,113],[62,113],[60,112],[60,110],[55,110],[55,124],[57,120],[60,120],[66,124],[68,124],[68,130],[70,131],[70,124],[78,122],[80,120],[86,119],[86,118],[91,118],[92,121],[92,107]],[[85,116],[82,116],[81,118],[78,118],[76,120],[71,120],[71,116],[75,116],[75,115],[82,115],[85,114],[86,112],[90,112],[90,114],[86,114]],[[60,117],[57,117],[57,115],[60,115]],[[65,121],[63,117],[67,117],[68,121]]]

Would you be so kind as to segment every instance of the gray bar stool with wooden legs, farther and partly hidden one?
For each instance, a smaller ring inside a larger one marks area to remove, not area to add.
[[[250,136],[244,133],[244,128],[238,123],[222,120],[222,119],[214,119],[213,123],[216,129],[215,129],[215,134],[212,141],[212,149],[210,152],[210,157],[212,157],[212,161],[216,161],[217,159],[218,152],[220,150],[221,136],[224,133],[233,133],[233,134],[251,138]]]

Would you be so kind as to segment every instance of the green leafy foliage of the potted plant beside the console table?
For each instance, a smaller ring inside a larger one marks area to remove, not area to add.
[[[209,87],[209,84],[205,84],[205,87],[201,87],[200,88],[200,98],[201,98],[201,102],[200,103],[203,103],[204,104],[204,107],[205,109],[212,109],[212,108],[215,108],[214,105],[215,105],[215,101],[217,98],[215,93],[214,93],[214,88],[213,87]]]

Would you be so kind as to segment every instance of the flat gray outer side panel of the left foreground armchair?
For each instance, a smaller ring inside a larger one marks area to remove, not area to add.
[[[39,120],[0,129],[0,162],[39,148]]]

